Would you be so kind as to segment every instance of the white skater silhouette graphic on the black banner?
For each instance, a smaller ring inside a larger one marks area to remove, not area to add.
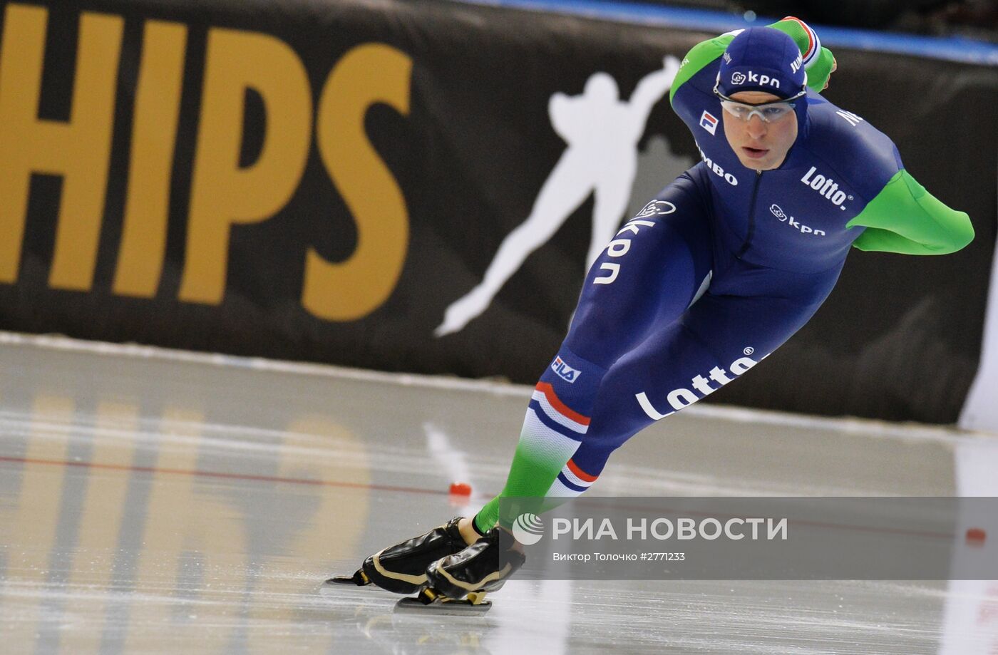
[[[589,270],[620,226],[638,169],[638,142],[652,108],[680,68],[679,60],[671,56],[663,64],[638,83],[630,101],[620,100],[617,82],[603,72],[590,76],[581,95],[551,96],[551,125],[568,148],[541,187],[530,216],[503,240],[485,279],[447,308],[443,324],[434,330],[437,336],[463,329],[482,314],[527,257],[547,243],[592,193]]]

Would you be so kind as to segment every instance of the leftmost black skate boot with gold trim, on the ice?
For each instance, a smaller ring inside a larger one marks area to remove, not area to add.
[[[426,584],[426,567],[467,547],[457,524],[460,516],[426,534],[379,550],[364,560],[352,576],[337,576],[326,582],[376,584],[395,593],[411,594]]]

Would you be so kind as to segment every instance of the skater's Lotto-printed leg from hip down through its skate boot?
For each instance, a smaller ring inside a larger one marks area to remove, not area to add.
[[[589,429],[546,497],[494,500],[499,503],[499,525],[461,552],[430,564],[426,575],[431,587],[461,597],[501,586],[524,559],[512,546],[515,539],[506,526],[525,510],[543,511],[582,493],[602,472],[610,453],[632,435],[746,373],[813,315],[838,271],[794,276],[735,264],[729,274],[720,277],[714,293],[708,292],[680,319],[649,334],[610,366]],[[752,295],[740,296],[740,291]],[[480,527],[487,510],[488,505],[475,519]]]

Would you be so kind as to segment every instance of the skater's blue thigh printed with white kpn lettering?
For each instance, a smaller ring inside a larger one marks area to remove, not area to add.
[[[618,231],[590,269],[565,339],[609,367],[689,307],[713,266],[703,182],[684,174]]]

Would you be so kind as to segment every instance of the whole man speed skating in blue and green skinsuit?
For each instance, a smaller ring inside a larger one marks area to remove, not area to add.
[[[745,374],[813,316],[850,247],[970,243],[967,215],[908,175],[884,134],[818,95],[834,66],[795,18],[690,51],[671,100],[704,161],[593,265],[502,493],[368,557],[353,582],[478,602],[522,564],[512,507],[578,496],[628,438]],[[524,501],[500,511],[502,498]]]

